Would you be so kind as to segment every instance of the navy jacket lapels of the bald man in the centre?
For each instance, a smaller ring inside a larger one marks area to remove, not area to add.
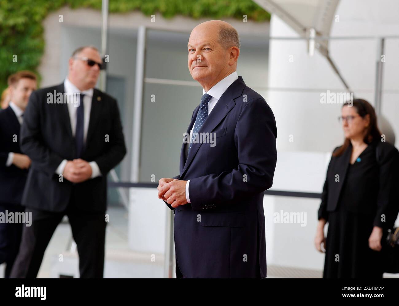
[[[245,86],[246,85],[243,81],[243,78],[238,77],[238,79],[235,80],[226,89],[226,91],[223,93],[223,95],[221,95],[220,99],[217,101],[215,107],[213,107],[213,110],[209,114],[208,118],[206,118],[205,122],[202,124],[202,126],[198,132],[199,133],[212,132],[215,129],[215,127],[221,122],[221,120],[223,120],[223,118],[225,118],[225,116],[233,109],[233,107],[235,106],[234,99],[236,99],[242,95]],[[198,109],[199,109],[199,107],[198,107]],[[197,118],[197,113],[198,113],[198,110],[197,110],[195,116],[193,117],[194,122]],[[193,120],[190,123],[190,126],[194,125]],[[190,128],[189,128],[189,131],[190,131]],[[184,164],[184,168],[183,168],[183,171],[182,171],[182,174],[180,177],[182,177],[184,175],[184,173],[187,171],[188,167],[190,166],[192,160],[196,156],[198,149],[200,148],[201,145],[202,145],[202,143],[193,143],[192,144],[190,155],[188,156],[187,161]],[[180,159],[182,159],[182,157]]]

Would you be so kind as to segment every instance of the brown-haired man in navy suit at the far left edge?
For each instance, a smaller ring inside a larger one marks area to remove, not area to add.
[[[5,219],[24,211],[21,199],[31,160],[21,152],[20,127],[30,94],[37,87],[36,75],[19,71],[10,75],[8,83],[11,102],[0,111],[0,213]],[[22,227],[22,223],[0,222],[0,264],[6,263],[5,278],[10,276],[18,254]]]

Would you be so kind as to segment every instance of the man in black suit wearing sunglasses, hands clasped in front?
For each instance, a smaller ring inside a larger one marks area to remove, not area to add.
[[[65,81],[30,97],[21,148],[32,159],[22,198],[32,226],[24,228],[12,277],[37,276],[64,215],[77,244],[80,277],[103,277],[107,173],[126,147],[117,101],[93,89],[101,62],[94,47],[79,48]]]

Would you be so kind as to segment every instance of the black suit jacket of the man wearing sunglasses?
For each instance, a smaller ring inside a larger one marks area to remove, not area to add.
[[[60,182],[55,170],[62,160],[73,160],[72,136],[67,104],[47,103],[47,93],[63,93],[60,84],[34,91],[30,96],[21,129],[21,149],[32,159],[22,203],[45,211],[63,211],[74,196],[75,205],[86,211],[105,211],[107,173],[126,154],[117,101],[94,89],[89,129],[82,159],[95,161],[102,176],[80,184],[65,178]],[[109,142],[105,141],[109,135]]]

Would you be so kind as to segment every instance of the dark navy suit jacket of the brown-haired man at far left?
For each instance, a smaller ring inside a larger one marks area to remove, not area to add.
[[[0,110],[0,204],[21,204],[28,170],[6,167],[9,152],[22,153],[20,122],[11,107]]]

